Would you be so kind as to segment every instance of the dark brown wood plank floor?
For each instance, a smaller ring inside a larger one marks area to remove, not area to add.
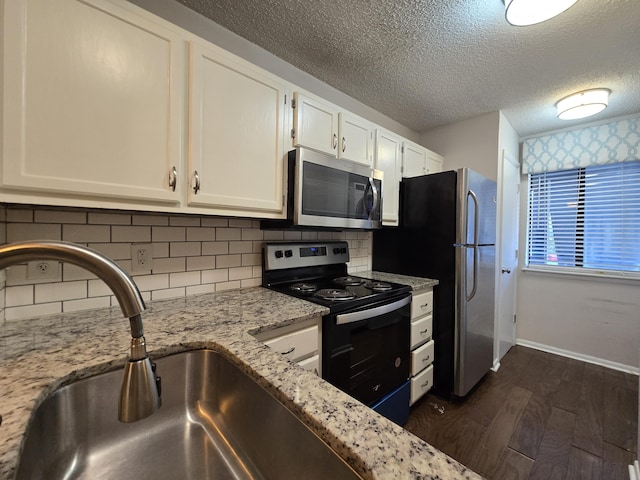
[[[405,428],[489,480],[625,480],[638,377],[515,346],[463,401],[427,394]]]

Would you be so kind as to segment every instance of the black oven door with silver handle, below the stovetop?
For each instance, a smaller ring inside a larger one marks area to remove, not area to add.
[[[375,404],[409,378],[410,324],[411,294],[323,317],[323,378]]]

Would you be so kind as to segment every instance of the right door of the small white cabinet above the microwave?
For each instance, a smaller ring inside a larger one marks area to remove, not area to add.
[[[365,119],[340,112],[338,158],[373,165],[373,127]]]

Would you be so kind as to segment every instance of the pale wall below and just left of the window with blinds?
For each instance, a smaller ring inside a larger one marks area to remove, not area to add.
[[[527,191],[526,178],[521,191]],[[520,218],[522,266],[526,248],[526,193]],[[637,282],[520,271],[517,341],[637,373],[638,293]]]

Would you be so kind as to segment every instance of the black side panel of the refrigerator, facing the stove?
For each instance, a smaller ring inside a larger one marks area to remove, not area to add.
[[[403,179],[400,227],[373,233],[373,270],[437,279],[434,288],[434,391],[454,381],[457,172]]]

